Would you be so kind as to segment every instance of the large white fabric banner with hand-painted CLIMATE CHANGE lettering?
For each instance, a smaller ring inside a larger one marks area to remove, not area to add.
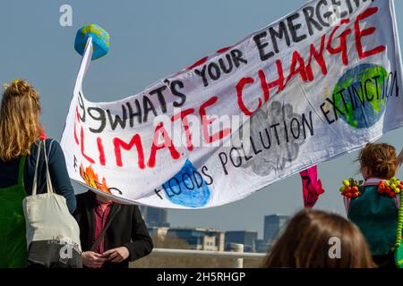
[[[110,103],[83,95],[91,50],[61,144],[74,181],[121,202],[220,206],[403,124],[391,0],[310,1]]]

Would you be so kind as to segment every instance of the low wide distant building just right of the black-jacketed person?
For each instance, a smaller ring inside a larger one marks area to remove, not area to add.
[[[191,249],[224,251],[225,235],[222,231],[210,229],[170,228],[167,237],[186,241]]]

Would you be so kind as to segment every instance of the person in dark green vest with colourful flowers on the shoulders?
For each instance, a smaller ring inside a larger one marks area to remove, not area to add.
[[[347,217],[363,232],[379,267],[394,267],[392,248],[398,227],[399,194],[403,184],[394,178],[403,161],[395,147],[385,143],[368,143],[358,159],[363,182],[343,181],[340,188]]]

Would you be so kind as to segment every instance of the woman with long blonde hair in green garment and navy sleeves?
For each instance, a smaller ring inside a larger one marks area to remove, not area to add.
[[[6,85],[0,106],[0,267],[23,267],[27,254],[22,200],[31,194],[40,135],[39,93],[25,80]],[[76,202],[60,145],[46,139],[52,185],[73,213]],[[38,193],[46,191],[41,152]]]

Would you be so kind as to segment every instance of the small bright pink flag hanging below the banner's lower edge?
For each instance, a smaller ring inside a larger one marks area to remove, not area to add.
[[[322,181],[318,180],[318,170],[316,165],[299,172],[303,183],[304,207],[313,207],[319,196],[324,193]]]

